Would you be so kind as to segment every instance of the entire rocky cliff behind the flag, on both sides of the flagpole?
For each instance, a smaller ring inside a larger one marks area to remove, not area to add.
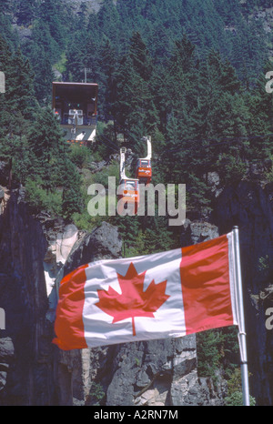
[[[240,227],[251,394],[272,404],[272,184],[243,181],[216,199],[214,223],[186,221],[190,245]],[[116,227],[82,233],[62,219],[33,217],[24,190],[0,217],[0,405],[221,405],[225,386],[197,375],[195,336],[63,352],[51,343],[57,287],[77,266],[121,257]]]

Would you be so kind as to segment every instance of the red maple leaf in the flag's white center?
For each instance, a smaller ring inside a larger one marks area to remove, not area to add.
[[[161,305],[169,298],[165,294],[167,280],[155,284],[152,280],[146,291],[143,291],[143,284],[146,271],[137,274],[134,264],[131,262],[127,269],[126,276],[116,273],[122,294],[109,287],[106,290],[97,290],[99,301],[97,308],[102,309],[106,314],[113,317],[112,324],[126,318],[132,318],[133,336],[136,336],[135,317],[154,317]]]

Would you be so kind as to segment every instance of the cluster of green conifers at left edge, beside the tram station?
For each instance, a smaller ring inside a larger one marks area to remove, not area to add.
[[[35,98],[35,75],[28,59],[20,49],[12,52],[4,38],[0,67],[6,86],[0,97],[0,157],[8,160],[13,185],[25,185],[35,211],[71,217],[82,208],[80,176],[56,117]]]

